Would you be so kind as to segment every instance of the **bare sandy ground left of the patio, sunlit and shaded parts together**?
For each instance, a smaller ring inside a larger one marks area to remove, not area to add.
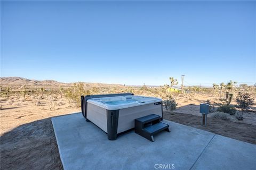
[[[52,111],[47,99],[10,103],[1,101],[1,168],[63,169],[51,117],[80,112],[65,99],[55,101]]]

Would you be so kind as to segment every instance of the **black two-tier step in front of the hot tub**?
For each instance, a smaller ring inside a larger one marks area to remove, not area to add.
[[[169,124],[162,123],[159,115],[151,114],[135,119],[135,133],[152,142],[154,142],[153,135],[163,130],[171,132]]]

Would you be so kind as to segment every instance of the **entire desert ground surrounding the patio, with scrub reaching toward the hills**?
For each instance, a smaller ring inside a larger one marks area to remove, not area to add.
[[[42,89],[43,86],[45,86],[44,89]],[[12,88],[7,91],[9,94],[6,94],[6,87],[2,90],[1,169],[62,169],[51,117],[81,112],[79,107],[79,95],[81,94],[133,92],[135,95],[163,99],[166,96],[164,87],[86,87],[77,86],[77,84],[71,89],[66,87],[55,88],[55,90],[49,90],[46,85],[42,84],[38,88],[33,86],[38,90],[19,87],[16,90]],[[230,105],[236,105],[237,91],[246,90],[235,88],[235,95]],[[249,92],[255,96],[255,88]],[[169,93],[167,92],[167,95]],[[212,89],[199,91],[190,89],[184,94],[172,92],[171,96],[178,105],[173,111],[163,108],[163,117],[166,120],[256,144],[255,104],[243,114],[244,119],[238,121],[234,115],[217,111],[221,106],[221,101],[218,92],[214,94]],[[214,107],[214,111],[210,113],[205,127],[201,125],[199,104],[207,102]],[[236,112],[241,111],[237,109]],[[222,117],[216,115],[222,115]]]

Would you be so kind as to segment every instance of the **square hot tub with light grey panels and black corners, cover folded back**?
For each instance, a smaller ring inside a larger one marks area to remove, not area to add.
[[[133,94],[110,94],[82,96],[82,113],[115,140],[117,134],[134,128],[135,118],[156,114],[163,116],[162,99],[134,96]]]

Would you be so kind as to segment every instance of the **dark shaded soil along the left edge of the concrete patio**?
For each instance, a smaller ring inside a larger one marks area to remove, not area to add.
[[[63,169],[51,118],[1,136],[1,169]]]

